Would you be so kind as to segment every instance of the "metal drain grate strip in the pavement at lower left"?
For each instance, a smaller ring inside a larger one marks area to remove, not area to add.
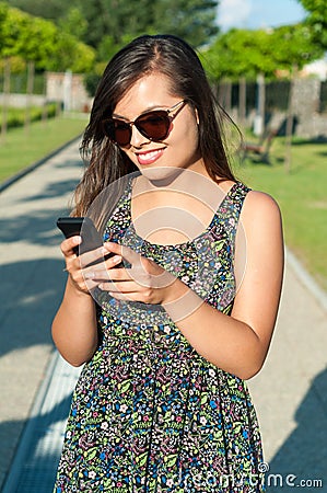
[[[52,492],[71,394],[80,371],[55,353],[2,493]]]

